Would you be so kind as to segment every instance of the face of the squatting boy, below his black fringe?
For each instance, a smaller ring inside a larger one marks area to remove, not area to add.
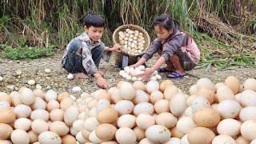
[[[88,34],[89,38],[93,42],[98,42],[98,40],[102,38],[103,31],[104,31],[103,27],[94,27],[94,26],[90,26],[89,28],[86,27],[86,33]]]

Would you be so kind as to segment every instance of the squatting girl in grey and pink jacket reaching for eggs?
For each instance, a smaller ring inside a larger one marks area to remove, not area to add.
[[[179,29],[178,22],[170,18],[169,14],[161,14],[154,20],[154,30],[157,38],[151,42],[142,58],[132,66],[142,65],[158,52],[161,57],[154,66],[142,74],[142,80],[150,78],[154,70],[158,70],[158,73],[168,72],[167,78],[184,77],[185,70],[192,70],[199,62],[198,46],[189,34]],[[164,62],[167,66],[159,68]]]

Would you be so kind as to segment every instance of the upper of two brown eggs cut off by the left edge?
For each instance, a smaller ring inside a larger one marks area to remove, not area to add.
[[[15,114],[13,110],[3,109],[0,110],[0,123],[13,123],[15,121]]]

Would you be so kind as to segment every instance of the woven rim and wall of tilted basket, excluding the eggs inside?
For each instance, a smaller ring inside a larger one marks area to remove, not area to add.
[[[119,26],[116,30],[114,30],[114,34],[113,34],[113,42],[114,42],[114,44],[115,43],[120,43],[119,42],[118,32],[119,31],[125,31],[126,29],[138,30],[139,32],[141,32],[143,34],[142,36],[143,36],[143,38],[145,40],[145,43],[144,43],[144,46],[143,46],[143,50],[142,50],[142,53],[141,53],[141,54],[143,54],[146,51],[146,49],[150,46],[150,35],[141,26],[132,25],[132,24],[127,24],[127,25]],[[122,51],[123,54],[126,54],[126,55],[128,55],[130,57],[136,57],[138,55],[141,55],[141,54],[128,54],[127,51],[123,49],[123,47],[121,47],[121,51]]]

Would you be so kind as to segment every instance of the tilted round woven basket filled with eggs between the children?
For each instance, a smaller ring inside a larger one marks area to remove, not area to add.
[[[123,54],[134,57],[143,54],[150,46],[150,36],[141,26],[127,24],[114,30],[113,42],[122,46]]]

